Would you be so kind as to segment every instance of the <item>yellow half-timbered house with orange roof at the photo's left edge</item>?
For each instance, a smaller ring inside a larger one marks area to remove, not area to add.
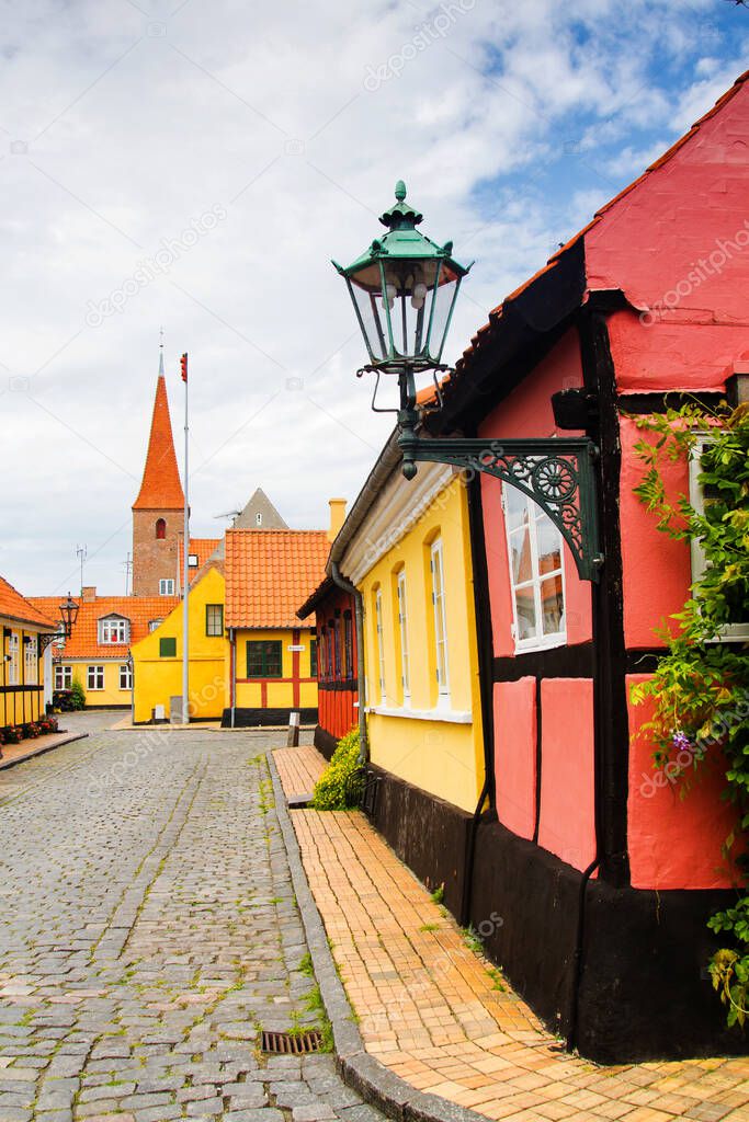
[[[45,636],[57,631],[52,622],[57,617],[57,603],[55,615],[49,617],[0,577],[0,728],[30,724],[45,712],[45,666],[48,673],[51,649],[42,653],[42,646]]]

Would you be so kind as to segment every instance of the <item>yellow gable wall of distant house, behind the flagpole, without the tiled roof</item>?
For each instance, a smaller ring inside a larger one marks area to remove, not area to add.
[[[226,587],[221,565],[209,562],[188,597],[189,683],[192,720],[218,720],[228,695],[229,643],[225,634]],[[133,719],[168,719],[170,699],[182,695],[183,605],[177,603],[153,632],[135,643]]]

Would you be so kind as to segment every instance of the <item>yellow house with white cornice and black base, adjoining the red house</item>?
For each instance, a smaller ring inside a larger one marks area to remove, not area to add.
[[[362,597],[373,819],[459,910],[485,757],[469,493],[446,465],[401,475],[391,438],[331,548]]]

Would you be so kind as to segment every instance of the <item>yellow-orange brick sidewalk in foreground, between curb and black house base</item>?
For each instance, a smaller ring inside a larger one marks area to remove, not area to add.
[[[568,1055],[364,816],[292,821],[367,1051],[412,1086],[512,1122],[749,1120],[749,1059]]]

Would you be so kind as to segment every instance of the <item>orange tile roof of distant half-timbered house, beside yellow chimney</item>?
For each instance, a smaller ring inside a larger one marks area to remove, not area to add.
[[[325,577],[325,530],[228,530],[227,627],[299,627],[296,608]]]

